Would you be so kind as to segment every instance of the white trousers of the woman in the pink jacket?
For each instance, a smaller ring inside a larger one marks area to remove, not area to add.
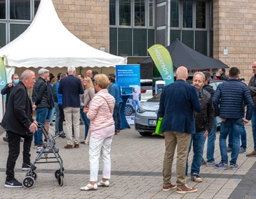
[[[98,140],[90,137],[89,161],[90,161],[90,181],[97,182],[97,175],[99,172],[99,159],[102,156],[102,178],[110,179],[111,175],[111,160],[110,150],[112,137]]]

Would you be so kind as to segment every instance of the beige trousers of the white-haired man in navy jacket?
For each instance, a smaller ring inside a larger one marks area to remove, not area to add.
[[[72,126],[74,127],[74,144],[79,144],[80,108],[66,107],[63,109],[67,126],[67,145],[73,145]]]

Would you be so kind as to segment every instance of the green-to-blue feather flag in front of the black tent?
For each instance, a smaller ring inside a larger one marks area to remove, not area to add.
[[[169,51],[163,45],[156,44],[147,50],[159,70],[166,85],[174,82],[173,61]]]

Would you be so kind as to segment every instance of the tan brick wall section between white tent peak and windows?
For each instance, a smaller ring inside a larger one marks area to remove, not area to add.
[[[65,27],[88,45],[109,52],[109,0],[53,0]]]

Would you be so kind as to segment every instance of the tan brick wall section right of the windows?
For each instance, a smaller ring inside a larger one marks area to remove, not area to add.
[[[256,61],[256,1],[213,1],[213,57],[236,66],[248,83]],[[229,50],[224,55],[223,50]]]

